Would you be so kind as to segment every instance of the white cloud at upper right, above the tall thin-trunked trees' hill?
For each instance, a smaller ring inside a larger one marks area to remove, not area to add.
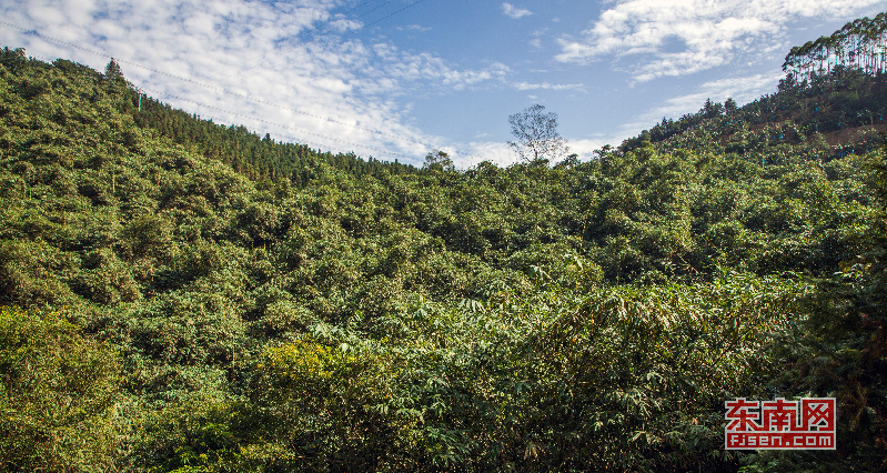
[[[631,62],[637,81],[685,76],[756,54],[809,17],[846,17],[880,0],[621,0],[578,37],[562,37],[561,62]],[[677,46],[678,50],[673,50]]]

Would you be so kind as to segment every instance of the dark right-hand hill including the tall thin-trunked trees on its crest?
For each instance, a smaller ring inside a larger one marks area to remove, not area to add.
[[[859,19],[786,56],[778,90],[746,105],[710,100],[695,113],[663,119],[619,149],[649,141],[663,150],[770,153],[780,144],[827,144],[823,159],[875,149],[887,131],[887,18]]]

